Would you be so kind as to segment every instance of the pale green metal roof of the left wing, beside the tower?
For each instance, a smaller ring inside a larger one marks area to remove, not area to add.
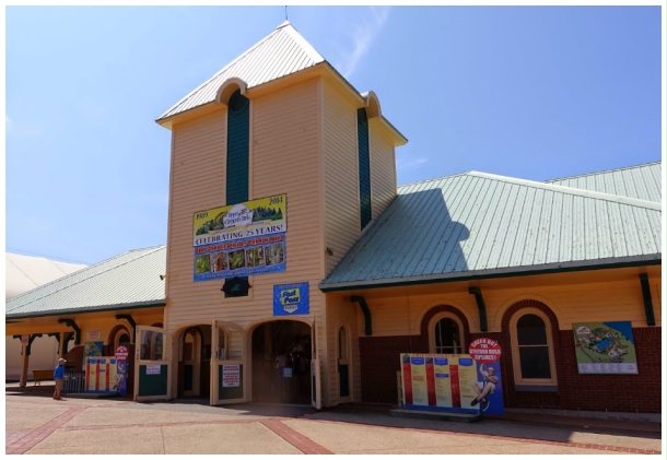
[[[5,303],[5,318],[164,305],[166,246],[136,249],[62,276]]]

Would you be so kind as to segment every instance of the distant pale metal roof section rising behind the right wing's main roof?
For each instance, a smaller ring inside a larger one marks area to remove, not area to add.
[[[565,187],[660,202],[663,162],[546,180]]]

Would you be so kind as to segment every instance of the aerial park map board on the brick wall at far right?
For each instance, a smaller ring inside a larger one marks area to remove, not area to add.
[[[630,321],[573,323],[580,374],[639,374]]]

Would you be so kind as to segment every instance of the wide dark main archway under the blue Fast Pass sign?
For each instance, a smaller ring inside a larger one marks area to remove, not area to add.
[[[311,403],[311,326],[277,320],[253,332],[253,401]]]

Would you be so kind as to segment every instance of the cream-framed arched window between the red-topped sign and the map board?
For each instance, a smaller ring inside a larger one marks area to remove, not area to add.
[[[512,317],[510,327],[515,382],[555,385],[555,362],[549,318],[536,308],[524,308]]]

